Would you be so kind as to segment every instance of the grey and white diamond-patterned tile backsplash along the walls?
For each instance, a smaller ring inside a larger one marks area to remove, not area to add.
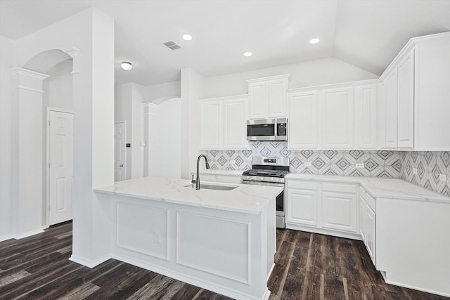
[[[289,157],[290,171],[303,174],[401,178],[450,197],[450,152],[388,150],[288,150],[287,142],[251,142],[248,150],[207,150],[212,169],[247,170],[254,156]],[[310,166],[305,166],[310,162]],[[356,168],[363,163],[364,168]],[[418,174],[413,174],[413,168]],[[439,181],[439,174],[446,181]]]

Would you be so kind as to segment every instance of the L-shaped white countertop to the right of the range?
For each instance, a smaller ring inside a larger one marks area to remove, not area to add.
[[[450,197],[446,197],[432,190],[397,178],[330,176],[314,174],[290,173],[285,178],[295,178],[304,181],[328,181],[336,183],[360,184],[372,197],[389,199],[418,200],[430,202],[444,202],[450,204]]]

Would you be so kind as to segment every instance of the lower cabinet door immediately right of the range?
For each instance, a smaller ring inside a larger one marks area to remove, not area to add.
[[[319,203],[317,190],[288,189],[286,222],[319,226]]]

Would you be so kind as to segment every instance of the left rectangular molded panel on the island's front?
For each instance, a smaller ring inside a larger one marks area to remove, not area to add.
[[[169,209],[117,202],[116,245],[169,260]]]

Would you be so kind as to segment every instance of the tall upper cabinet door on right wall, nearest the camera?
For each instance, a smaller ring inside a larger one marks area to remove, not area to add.
[[[397,67],[398,144],[399,148],[414,146],[414,49]]]

